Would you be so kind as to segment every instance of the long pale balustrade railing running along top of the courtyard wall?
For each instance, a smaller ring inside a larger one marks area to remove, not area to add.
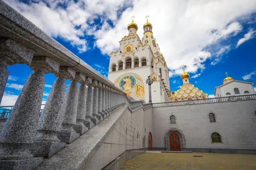
[[[217,102],[231,102],[231,101],[241,101],[241,100],[255,100],[256,94],[243,95],[243,96],[229,96],[229,97],[217,97],[209,99],[196,99],[196,100],[183,100],[176,102],[163,102],[163,103],[153,103],[152,107],[168,107],[168,106],[180,106],[180,105],[195,105],[195,104],[205,104],[205,103],[217,103]]]

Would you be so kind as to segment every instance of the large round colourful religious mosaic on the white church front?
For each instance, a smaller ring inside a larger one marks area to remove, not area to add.
[[[141,99],[145,96],[145,86],[143,80],[136,74],[125,74],[116,79],[117,85],[127,96],[134,99]]]

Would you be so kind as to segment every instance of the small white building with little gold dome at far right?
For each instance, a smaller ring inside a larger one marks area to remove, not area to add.
[[[241,96],[248,94],[255,94],[252,82],[238,81],[228,76],[223,80],[223,85],[215,87],[214,92],[215,97]]]

